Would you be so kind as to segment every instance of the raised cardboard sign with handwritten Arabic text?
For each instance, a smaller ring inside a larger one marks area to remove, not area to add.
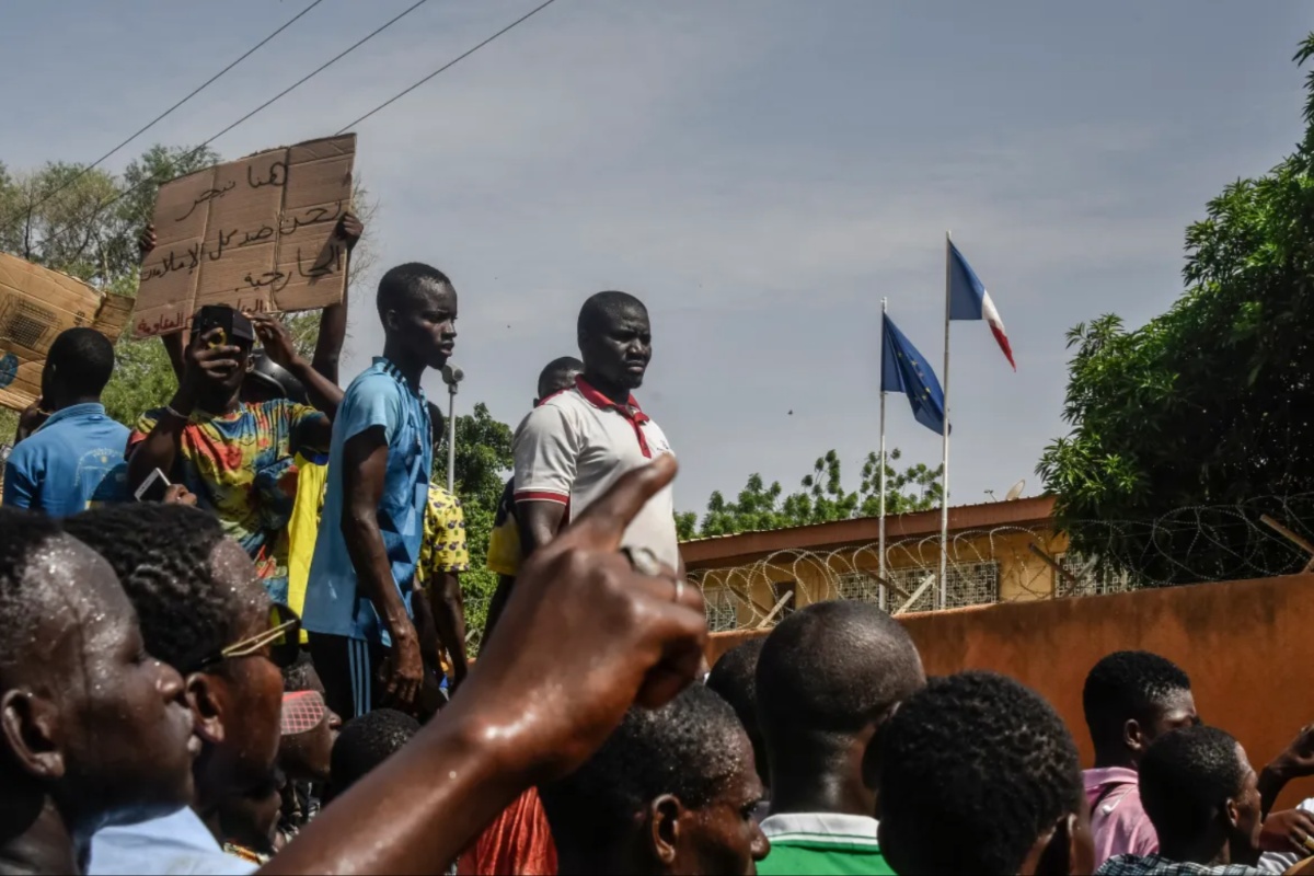
[[[133,336],[188,327],[204,305],[244,314],[342,303],[356,135],[259,152],[160,186]]]

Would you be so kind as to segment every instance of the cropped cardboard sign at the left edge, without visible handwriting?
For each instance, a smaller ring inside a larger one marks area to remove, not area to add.
[[[41,370],[59,332],[91,326],[118,340],[133,299],[0,252],[0,405],[21,411],[41,395]]]

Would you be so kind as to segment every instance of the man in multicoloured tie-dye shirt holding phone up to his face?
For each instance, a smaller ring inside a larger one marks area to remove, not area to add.
[[[135,489],[159,469],[184,485],[196,494],[197,507],[213,512],[256,561],[271,599],[286,602],[293,457],[327,450],[342,390],[297,355],[277,319],[234,311],[231,332],[200,328],[191,336],[177,393],[164,407],[146,411],[127,440],[129,482]],[[315,407],[240,399],[258,336],[269,357],[302,382]]]

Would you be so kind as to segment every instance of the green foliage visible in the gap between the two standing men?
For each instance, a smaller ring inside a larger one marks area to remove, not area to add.
[[[456,418],[456,495],[465,514],[465,538],[470,570],[461,575],[466,630],[482,630],[489,600],[497,590],[497,574],[485,565],[489,535],[506,479],[511,477],[511,427],[493,419],[480,402],[469,415]],[[434,482],[447,483],[447,436],[434,454]]]

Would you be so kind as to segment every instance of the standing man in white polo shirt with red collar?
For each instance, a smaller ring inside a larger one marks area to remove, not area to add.
[[[652,359],[648,309],[624,292],[599,292],[579,310],[583,373],[549,395],[515,432],[515,508],[524,556],[547,544],[616,478],[670,453],[661,428],[631,395]],[[668,486],[635,516],[622,542],[646,548],[683,574]]]

